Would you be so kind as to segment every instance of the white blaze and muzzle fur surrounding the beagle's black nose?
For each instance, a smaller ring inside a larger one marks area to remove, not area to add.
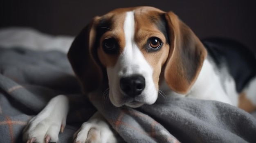
[[[122,91],[119,86],[119,80],[121,77],[127,77],[134,74],[144,76],[146,81],[146,87],[144,91],[138,97],[135,97],[136,101],[140,101],[146,104],[153,104],[157,99],[157,90],[153,81],[153,68],[148,64],[144,55],[139,50],[137,44],[134,41],[135,33],[135,20],[134,12],[129,11],[126,13],[124,21],[124,35],[125,35],[125,47],[122,54],[119,56],[117,63],[114,67],[108,67],[108,79],[110,86],[110,101],[115,106],[122,106]],[[133,105],[126,105],[135,107]]]

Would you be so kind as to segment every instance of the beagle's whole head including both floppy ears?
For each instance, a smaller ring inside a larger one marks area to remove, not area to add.
[[[135,108],[156,101],[163,79],[173,91],[188,92],[206,50],[173,12],[135,7],[95,17],[68,57],[85,92],[96,90],[106,76],[110,101]]]

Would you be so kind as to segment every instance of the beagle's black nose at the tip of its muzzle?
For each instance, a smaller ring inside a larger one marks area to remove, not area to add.
[[[120,79],[120,88],[130,97],[140,95],[145,88],[145,78],[141,75],[132,75]]]

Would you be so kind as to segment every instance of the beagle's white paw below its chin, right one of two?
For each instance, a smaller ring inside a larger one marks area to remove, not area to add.
[[[110,125],[97,112],[74,134],[74,143],[117,143],[116,136]]]

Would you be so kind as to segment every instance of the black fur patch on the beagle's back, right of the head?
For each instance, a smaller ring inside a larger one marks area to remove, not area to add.
[[[230,39],[208,38],[202,40],[208,55],[217,68],[225,65],[236,82],[237,92],[247,86],[250,79],[256,76],[256,57],[245,45]]]

